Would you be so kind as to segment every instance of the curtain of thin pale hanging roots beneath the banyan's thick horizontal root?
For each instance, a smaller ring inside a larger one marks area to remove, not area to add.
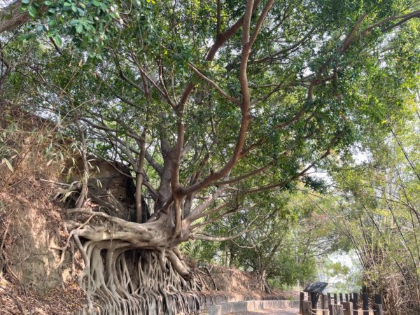
[[[133,248],[117,239],[82,244],[73,233],[85,268],[79,284],[87,293],[87,314],[195,314],[200,300],[190,291],[185,265],[172,250]]]

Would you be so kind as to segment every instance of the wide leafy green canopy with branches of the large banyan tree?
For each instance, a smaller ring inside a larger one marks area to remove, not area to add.
[[[92,151],[144,174],[154,209],[175,204],[189,221],[222,194],[252,199],[295,179],[318,187],[309,169],[384,120],[377,89],[392,86],[386,98],[417,84],[412,1],[22,8],[31,21],[3,53],[25,61],[6,90],[55,116],[77,113]],[[199,195],[209,201],[197,208]]]

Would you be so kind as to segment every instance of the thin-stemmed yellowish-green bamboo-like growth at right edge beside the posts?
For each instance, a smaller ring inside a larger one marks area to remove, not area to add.
[[[401,59],[394,67],[402,68]],[[397,72],[393,76],[398,77]],[[390,78],[389,82],[393,82]],[[388,90],[386,86],[366,86]],[[363,162],[333,167],[337,203],[328,215],[337,234],[351,241],[360,262],[364,290],[381,293],[390,314],[419,312],[419,102],[398,88],[377,93],[386,117],[359,146]],[[398,102],[400,111],[387,103]],[[360,155],[360,153],[359,153]],[[359,156],[360,159],[360,156]],[[403,301],[403,302],[402,302]]]

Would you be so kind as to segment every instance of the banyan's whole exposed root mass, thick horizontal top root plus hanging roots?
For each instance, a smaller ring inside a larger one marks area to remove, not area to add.
[[[195,314],[200,310],[200,299],[190,293],[200,288],[181,253],[174,251],[172,239],[162,232],[162,221],[138,224],[85,209],[69,212],[92,219],[90,225],[79,223],[71,232],[85,262],[78,279],[87,293],[85,313]]]

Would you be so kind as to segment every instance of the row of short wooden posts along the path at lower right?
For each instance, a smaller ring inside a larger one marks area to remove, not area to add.
[[[301,315],[384,315],[381,295],[375,294],[372,300],[372,309],[369,307],[369,295],[367,293],[331,293],[319,295],[316,305],[312,305],[311,295],[319,293],[300,293]],[[305,296],[307,295],[307,296]],[[306,297],[306,298],[305,298]],[[360,310],[360,311],[359,311]]]

